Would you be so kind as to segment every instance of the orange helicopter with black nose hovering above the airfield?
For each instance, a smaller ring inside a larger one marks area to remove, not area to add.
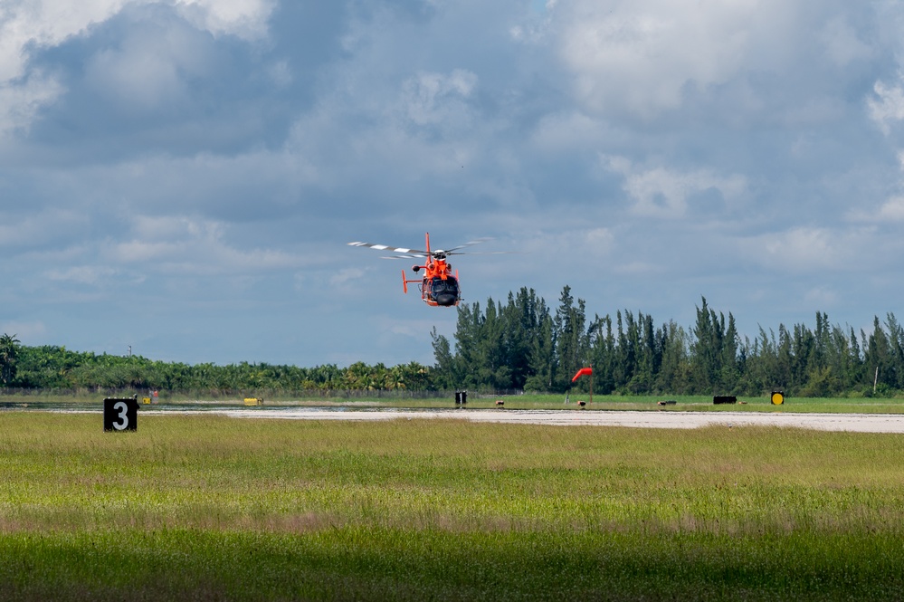
[[[418,288],[421,291],[421,300],[431,307],[455,307],[462,301],[462,289],[458,283],[458,270],[452,274],[452,264],[447,263],[446,258],[449,255],[477,254],[477,253],[456,253],[459,249],[463,249],[471,244],[481,244],[490,240],[489,238],[479,238],[469,243],[460,244],[451,249],[430,249],[430,233],[426,234],[427,250],[405,249],[402,247],[386,246],[385,244],[370,243],[349,243],[351,246],[366,246],[377,251],[391,251],[393,253],[402,253],[391,257],[383,257],[383,259],[405,259],[405,258],[423,258],[426,261],[423,265],[413,265],[414,273],[423,270],[423,278],[421,280],[408,280],[402,271],[402,290],[408,292],[408,284],[418,282]],[[502,252],[504,253],[504,252]]]

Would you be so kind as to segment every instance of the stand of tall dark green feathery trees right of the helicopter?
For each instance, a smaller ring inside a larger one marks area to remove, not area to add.
[[[904,391],[904,328],[894,313],[870,331],[832,324],[759,327],[751,339],[734,315],[701,298],[689,328],[656,323],[642,311],[588,317],[586,302],[562,290],[555,309],[535,291],[459,307],[454,345],[433,330],[436,387],[564,392],[580,368],[594,390],[623,395],[759,396],[782,389],[799,397],[890,396]]]

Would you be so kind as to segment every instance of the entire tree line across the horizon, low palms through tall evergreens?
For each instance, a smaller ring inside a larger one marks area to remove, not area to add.
[[[657,323],[642,311],[588,316],[586,302],[563,288],[556,308],[527,288],[508,300],[458,308],[453,340],[433,329],[434,365],[299,368],[265,363],[189,365],[141,356],[24,346],[0,337],[0,388],[164,390],[228,395],[341,391],[586,390],[572,384],[580,368],[594,369],[594,390],[623,395],[759,396],[779,388],[799,397],[887,397],[904,391],[904,328],[894,313],[869,331],[832,324],[820,311],[814,328],[759,327],[751,339],[734,316],[709,307],[695,322]]]

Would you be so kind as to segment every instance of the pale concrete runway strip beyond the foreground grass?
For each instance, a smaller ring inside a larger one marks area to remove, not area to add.
[[[413,420],[457,419],[520,425],[626,426],[634,428],[699,428],[700,426],[779,426],[821,431],[904,433],[904,415],[893,414],[794,414],[786,412],[675,412],[595,410],[505,409],[346,409],[322,407],[255,407],[237,409],[162,410],[160,415],[222,414],[243,418],[284,420]],[[156,411],[147,412],[153,416]]]

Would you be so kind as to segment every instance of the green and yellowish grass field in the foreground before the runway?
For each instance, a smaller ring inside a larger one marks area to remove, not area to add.
[[[902,599],[902,444],[0,412],[0,599]]]

